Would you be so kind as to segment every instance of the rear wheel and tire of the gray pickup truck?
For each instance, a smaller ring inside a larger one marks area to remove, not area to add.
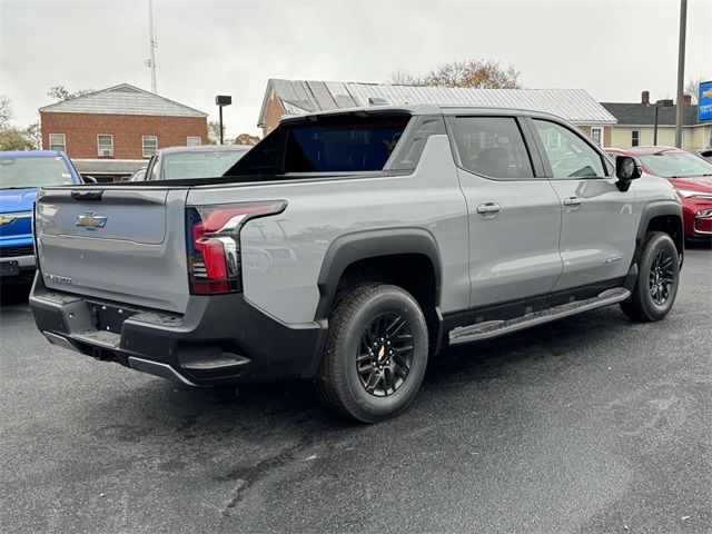
[[[397,286],[357,286],[332,310],[316,389],[340,415],[384,421],[413,403],[427,357],[427,325],[415,298]]]

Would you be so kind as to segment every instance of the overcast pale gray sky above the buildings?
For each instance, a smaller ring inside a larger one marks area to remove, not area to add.
[[[492,58],[527,88],[600,101],[673,98],[680,2],[155,0],[158,93],[257,134],[269,78],[383,82],[454,59]],[[49,87],[150,90],[148,0],[0,0],[0,95],[37,120]],[[690,0],[685,78],[712,79],[712,1]]]

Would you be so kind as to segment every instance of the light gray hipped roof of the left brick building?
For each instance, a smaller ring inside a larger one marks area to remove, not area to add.
[[[39,109],[42,113],[147,115],[166,117],[207,117],[168,98],[154,95],[128,83],[109,87],[81,97]]]

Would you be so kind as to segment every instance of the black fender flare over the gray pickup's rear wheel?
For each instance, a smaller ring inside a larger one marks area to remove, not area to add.
[[[422,228],[386,228],[345,234],[329,245],[319,271],[319,304],[315,320],[328,319],[336,289],[346,268],[355,261],[397,254],[422,254],[435,271],[435,305],[441,298],[441,255],[435,237]]]

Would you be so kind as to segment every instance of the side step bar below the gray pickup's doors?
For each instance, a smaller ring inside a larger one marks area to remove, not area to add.
[[[612,304],[622,303],[631,296],[631,291],[624,288],[609,289],[597,297],[574,303],[562,304],[553,308],[534,312],[522,317],[507,320],[488,320],[475,325],[461,326],[449,332],[449,344],[461,345],[464,343],[482,342],[493,337],[503,336],[513,332],[523,330],[531,326],[543,325],[552,320],[562,319],[572,315],[589,312],[590,309],[602,308]]]

